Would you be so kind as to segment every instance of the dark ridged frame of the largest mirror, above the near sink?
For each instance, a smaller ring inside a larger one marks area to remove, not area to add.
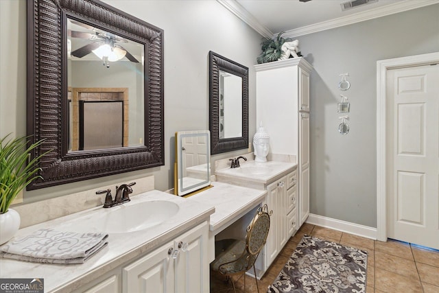
[[[145,145],[67,152],[67,17],[144,45]],[[27,134],[45,139],[32,157],[51,150],[27,190],[164,165],[163,117],[163,30],[101,1],[27,1]]]

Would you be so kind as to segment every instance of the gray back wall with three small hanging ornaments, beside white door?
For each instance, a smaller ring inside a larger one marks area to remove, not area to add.
[[[311,213],[377,226],[377,60],[439,51],[439,5],[300,36],[311,74]],[[337,89],[348,72],[351,89]],[[338,133],[337,102],[351,102]]]

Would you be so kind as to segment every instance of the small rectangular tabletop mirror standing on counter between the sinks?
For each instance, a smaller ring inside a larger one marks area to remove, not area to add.
[[[176,132],[174,194],[184,196],[211,185],[210,132]]]

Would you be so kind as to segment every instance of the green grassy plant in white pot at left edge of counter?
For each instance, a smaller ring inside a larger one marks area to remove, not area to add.
[[[28,160],[28,154],[43,141],[32,143],[27,147],[29,137],[8,139],[10,134],[0,139],[0,245],[8,242],[20,227],[20,215],[10,204],[16,196],[37,175],[37,161],[43,156]]]

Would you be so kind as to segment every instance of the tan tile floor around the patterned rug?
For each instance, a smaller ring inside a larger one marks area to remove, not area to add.
[[[439,293],[439,252],[392,240],[374,241],[311,224],[303,224],[296,235],[289,239],[272,266],[258,281],[260,293],[265,293],[268,285],[276,279],[305,234],[367,250],[367,293]],[[224,290],[230,287],[224,280],[224,276],[211,271],[211,293],[233,292]],[[243,278],[235,285],[242,289]],[[246,292],[257,292],[254,279],[249,276],[246,277]]]

